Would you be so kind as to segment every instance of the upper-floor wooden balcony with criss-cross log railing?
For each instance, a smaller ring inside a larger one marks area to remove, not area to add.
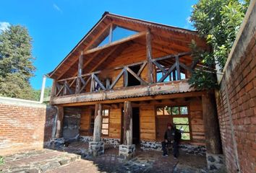
[[[152,58],[150,61],[60,79],[54,82],[51,103],[90,102],[195,91],[187,82],[191,68],[180,61],[180,58],[187,55],[189,53]],[[149,72],[149,63],[153,73]]]

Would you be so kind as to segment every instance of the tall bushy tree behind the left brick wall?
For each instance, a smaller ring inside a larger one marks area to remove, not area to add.
[[[32,99],[32,38],[25,27],[12,25],[0,33],[0,95]]]

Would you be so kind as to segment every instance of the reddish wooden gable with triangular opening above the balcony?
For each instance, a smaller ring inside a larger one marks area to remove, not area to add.
[[[134,35],[115,40],[106,45],[98,45],[108,36],[112,27],[122,27],[127,30],[136,31]],[[64,58],[54,71],[48,74],[52,79],[64,79],[77,76],[78,59],[83,53],[83,73],[90,73],[106,68],[120,66],[124,61],[119,61],[120,57],[125,57],[127,63],[135,63],[130,57],[135,57],[137,61],[146,57],[146,31],[150,30],[152,35],[153,58],[189,52],[189,44],[195,40],[197,45],[206,47],[205,40],[200,39],[197,32],[185,30],[177,27],[170,27],[153,22],[146,22],[140,19],[122,17],[116,14],[103,14],[99,22],[82,38],[75,48]],[[182,63],[190,63],[192,58],[184,56]],[[114,62],[114,63],[113,63]],[[163,61],[163,64],[171,63],[170,60]]]

